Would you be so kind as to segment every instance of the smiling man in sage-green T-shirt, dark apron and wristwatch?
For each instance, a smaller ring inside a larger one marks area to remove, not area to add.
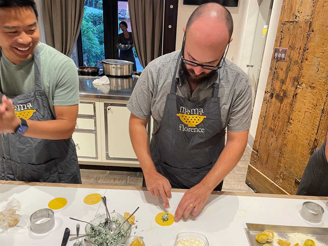
[[[78,75],[39,42],[33,0],[0,0],[0,180],[81,183]]]

